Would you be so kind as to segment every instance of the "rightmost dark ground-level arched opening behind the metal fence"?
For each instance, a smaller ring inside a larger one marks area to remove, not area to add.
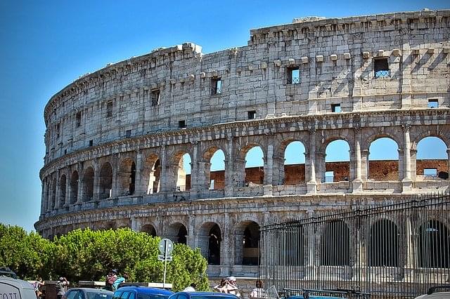
[[[419,267],[450,267],[449,230],[438,220],[429,220],[419,227]]]

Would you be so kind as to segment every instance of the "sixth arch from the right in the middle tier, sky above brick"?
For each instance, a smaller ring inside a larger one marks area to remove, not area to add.
[[[203,153],[203,159],[205,161],[205,182],[207,183],[205,187],[210,190],[223,190],[226,171],[225,152],[219,147],[210,147]]]

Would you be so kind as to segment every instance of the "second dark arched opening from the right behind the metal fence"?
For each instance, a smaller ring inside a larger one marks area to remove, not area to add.
[[[390,220],[378,220],[371,226],[368,244],[368,265],[399,267],[399,235],[397,225]]]

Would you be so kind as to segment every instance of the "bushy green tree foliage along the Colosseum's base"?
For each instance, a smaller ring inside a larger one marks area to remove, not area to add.
[[[74,230],[53,241],[17,226],[0,224],[0,266],[23,279],[102,281],[111,269],[129,274],[129,281],[162,282],[164,263],[158,260],[159,237],[129,229]],[[175,244],[167,262],[166,281],[179,291],[191,283],[208,290],[207,262],[197,249]]]

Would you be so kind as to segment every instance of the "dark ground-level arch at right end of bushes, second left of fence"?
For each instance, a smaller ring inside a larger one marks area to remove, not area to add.
[[[207,258],[208,264],[220,265],[221,264],[221,229],[216,222],[205,222],[200,227],[200,250],[205,258]]]

